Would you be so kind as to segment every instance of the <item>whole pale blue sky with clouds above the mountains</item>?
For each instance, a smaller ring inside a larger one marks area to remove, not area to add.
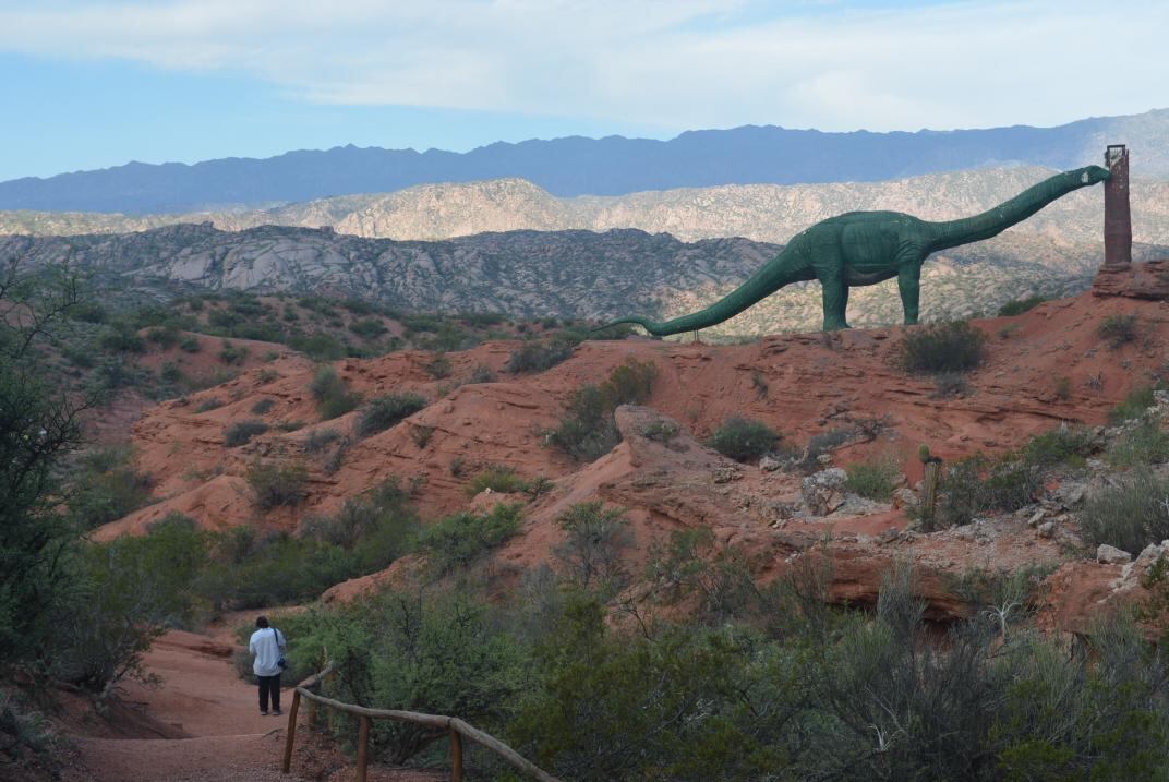
[[[1169,106],[1169,2],[0,0],[0,180],[343,144]]]

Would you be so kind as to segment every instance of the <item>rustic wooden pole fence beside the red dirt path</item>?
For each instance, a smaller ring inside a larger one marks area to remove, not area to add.
[[[444,729],[450,735],[450,762],[451,762],[451,774],[450,778],[454,782],[463,781],[463,739],[470,739],[477,745],[490,749],[491,752],[499,755],[499,757],[523,774],[537,780],[538,782],[560,782],[556,777],[552,776],[547,771],[540,769],[538,766],[525,759],[518,752],[499,741],[492,735],[484,733],[473,725],[464,722],[457,717],[444,717],[440,714],[420,714],[417,712],[402,712],[393,708],[367,708],[365,706],[357,706],[354,704],[344,704],[339,700],[333,700],[332,698],[325,698],[314,692],[310,692],[309,687],[313,687],[319,684],[326,676],[332,673],[333,664],[326,665],[319,673],[316,673],[300,684],[298,684],[292,691],[292,708],[289,710],[289,729],[288,738],[284,742],[284,763],[281,770],[288,774],[292,767],[292,743],[296,741],[296,718],[297,712],[300,710],[300,698],[307,698],[310,701],[327,706],[328,708],[337,710],[339,712],[345,712],[346,714],[353,714],[360,718],[358,728],[358,768],[354,778],[357,782],[366,782],[366,767],[368,764],[368,753],[369,753],[369,726],[373,720],[396,720],[399,722],[414,722],[415,725],[422,725],[431,728]]]

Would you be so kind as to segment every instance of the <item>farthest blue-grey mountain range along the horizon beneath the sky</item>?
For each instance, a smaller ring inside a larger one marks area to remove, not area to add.
[[[690,131],[669,141],[572,137],[497,143],[466,153],[346,146],[263,160],[131,162],[0,182],[0,209],[179,213],[500,178],[523,178],[561,198],[878,181],[1007,161],[1072,168],[1099,162],[1113,143],[1129,145],[1135,175],[1169,177],[1169,109],[1158,109],[1058,127],[823,133],[746,126]]]

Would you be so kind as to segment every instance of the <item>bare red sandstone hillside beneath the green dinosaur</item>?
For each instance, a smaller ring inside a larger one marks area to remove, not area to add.
[[[708,527],[718,547],[742,549],[754,575],[766,579],[828,535],[835,600],[873,600],[879,574],[907,561],[918,568],[921,595],[935,618],[966,610],[953,591],[954,579],[973,568],[1059,568],[1045,593],[1043,621],[1081,629],[1098,601],[1140,595],[1133,591],[1137,577],[1128,577],[1132,568],[1087,561],[1077,524],[1086,493],[1104,491],[1112,479],[1100,458],[1113,463],[1128,454],[1116,450],[1118,442],[1127,442],[1125,429],[1099,424],[1162,371],[1164,357],[1156,346],[1164,338],[1163,309],[1162,303],[1085,295],[1019,318],[977,323],[991,337],[990,358],[956,397],[938,394],[928,378],[895,368],[900,335],[881,330],[728,347],[588,342],[563,364],[533,375],[504,371],[514,342],[490,342],[448,354],[451,374],[443,381],[427,373],[426,353],[337,362],[340,380],[367,400],[389,393],[424,400],[400,423],[365,434],[362,410],[321,421],[310,390],[319,369],[285,354],[263,371],[150,410],[134,427],[133,443],[158,501],[102,527],[97,537],[140,533],[172,512],[212,530],[260,525],[292,532],[302,520],[334,513],[347,498],[390,478],[410,486],[423,517],[435,518],[498,501],[491,491],[469,500],[469,486],[484,470],[506,468],[525,480],[544,476],[551,483],[534,499],[503,498],[528,504],[520,534],[496,555],[500,572],[520,573],[548,560],[562,537],[554,520],[572,504],[601,499],[625,508],[634,523],[634,560],[644,559],[651,544],[671,531]],[[1129,317],[1134,340],[1109,347],[1101,321]],[[656,378],[645,407],[617,411],[624,442],[592,463],[574,462],[551,445],[547,432],[566,415],[574,392],[603,382],[630,360],[652,365]],[[471,374],[482,367],[498,381],[476,382]],[[205,397],[219,403],[209,407]],[[257,415],[261,402],[264,411]],[[704,448],[731,415],[767,423],[782,434],[789,455],[811,452],[811,466],[801,473],[781,468],[782,458],[736,464]],[[267,434],[243,444],[226,442],[228,429],[242,418],[262,421]],[[290,420],[300,428],[281,425]],[[906,507],[916,501],[912,486],[921,477],[919,445],[953,465],[1018,449],[1060,422],[1087,424],[1085,431],[1098,427],[1077,448],[1107,449],[1106,455],[1060,468],[1053,473],[1058,479],[1035,489],[1042,501],[1023,501],[1014,514],[987,513],[968,526],[931,534],[905,531]],[[177,452],[184,458],[172,458]],[[816,452],[826,456],[817,461]],[[905,476],[908,489],[892,504],[850,493],[843,470],[823,469],[873,459]],[[296,507],[257,510],[249,476],[261,462],[302,465],[303,500]],[[808,477],[816,470],[822,471]],[[345,584],[331,596],[352,595],[386,577],[392,574]]]

